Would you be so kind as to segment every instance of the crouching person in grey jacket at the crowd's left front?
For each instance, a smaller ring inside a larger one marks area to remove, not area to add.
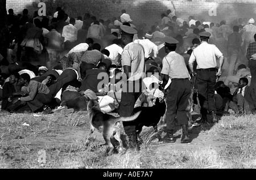
[[[28,105],[32,112],[43,112],[48,114],[51,109],[46,105],[52,101],[52,96],[49,93],[49,88],[35,80],[30,80],[30,75],[27,73],[21,74],[19,78],[19,85],[22,85],[20,93],[23,97],[14,97],[12,102],[16,106],[9,108],[10,112],[20,108],[20,105]],[[20,102],[19,102],[20,101]],[[17,103],[18,102],[18,103]]]

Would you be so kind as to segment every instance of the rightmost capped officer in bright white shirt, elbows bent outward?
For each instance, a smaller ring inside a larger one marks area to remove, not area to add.
[[[221,75],[224,63],[224,55],[212,44],[208,44],[210,33],[199,33],[201,44],[195,48],[189,58],[188,65],[193,75],[197,75],[198,97],[201,106],[201,119],[207,121],[207,113],[212,113],[212,122],[218,122],[216,105],[214,102],[214,88],[217,76]],[[220,67],[217,69],[216,56],[220,59]],[[193,70],[193,63],[197,62],[197,73]],[[217,73],[216,73],[216,70]],[[208,119],[209,120],[209,119]],[[211,122],[210,120],[208,122]]]

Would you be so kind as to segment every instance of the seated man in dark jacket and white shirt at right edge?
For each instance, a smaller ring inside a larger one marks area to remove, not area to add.
[[[240,78],[238,88],[233,94],[233,101],[242,113],[255,113],[256,97],[254,87],[248,86],[247,78]]]

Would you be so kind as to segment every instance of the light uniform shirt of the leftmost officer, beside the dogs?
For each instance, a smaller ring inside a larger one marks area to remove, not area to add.
[[[132,75],[130,75],[129,81],[141,79],[145,72],[144,50],[142,45],[134,42],[127,44],[125,48],[123,48],[121,62],[122,67],[131,66]]]

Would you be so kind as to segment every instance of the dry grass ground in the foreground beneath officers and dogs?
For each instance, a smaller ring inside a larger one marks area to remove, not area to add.
[[[256,115],[230,115],[216,125],[190,127],[189,144],[180,143],[180,127],[175,143],[158,142],[153,128],[144,127],[141,151],[126,149],[111,156],[100,145],[104,139],[99,132],[86,142],[86,112],[39,115],[0,114],[0,168],[256,168]],[[162,136],[164,127],[159,124]]]

